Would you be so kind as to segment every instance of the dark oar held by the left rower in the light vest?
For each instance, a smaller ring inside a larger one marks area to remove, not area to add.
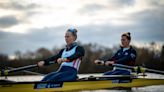
[[[50,64],[54,64],[55,62],[50,62]],[[12,72],[17,72],[17,71],[22,71],[22,70],[26,70],[26,69],[31,69],[31,68],[35,68],[35,67],[38,67],[37,64],[33,64],[33,65],[28,65],[28,66],[23,66],[23,67],[18,67],[18,68],[14,68],[14,69],[11,69],[11,70],[1,70],[0,71],[0,76],[5,76],[5,75],[8,75],[9,73],[12,73]]]

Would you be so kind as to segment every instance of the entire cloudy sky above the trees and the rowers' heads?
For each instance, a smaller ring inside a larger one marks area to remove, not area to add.
[[[0,53],[52,49],[68,28],[81,43],[107,47],[130,32],[131,44],[164,43],[164,0],[0,0]]]

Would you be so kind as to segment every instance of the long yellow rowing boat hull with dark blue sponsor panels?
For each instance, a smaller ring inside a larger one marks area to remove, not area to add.
[[[135,78],[125,75],[86,77],[68,82],[1,82],[0,92],[50,92],[72,90],[95,90],[105,88],[132,88],[164,85],[164,79]]]

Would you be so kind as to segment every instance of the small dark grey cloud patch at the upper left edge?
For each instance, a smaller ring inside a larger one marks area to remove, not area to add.
[[[16,19],[14,16],[3,16],[0,17],[0,28],[7,28],[14,25],[17,25],[19,20]]]

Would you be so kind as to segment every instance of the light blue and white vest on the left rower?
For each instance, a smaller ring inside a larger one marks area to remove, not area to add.
[[[63,53],[62,53],[62,58],[67,58],[67,57],[70,57],[71,55],[73,55],[74,53],[76,53],[76,48],[77,46],[73,47],[71,50],[69,51],[66,51],[66,49],[64,49]],[[75,69],[79,69],[79,66],[80,66],[80,63],[81,63],[81,59],[78,58],[76,60],[73,60],[73,61],[70,61],[70,62],[62,62],[61,66],[69,66],[69,67],[73,67]]]

